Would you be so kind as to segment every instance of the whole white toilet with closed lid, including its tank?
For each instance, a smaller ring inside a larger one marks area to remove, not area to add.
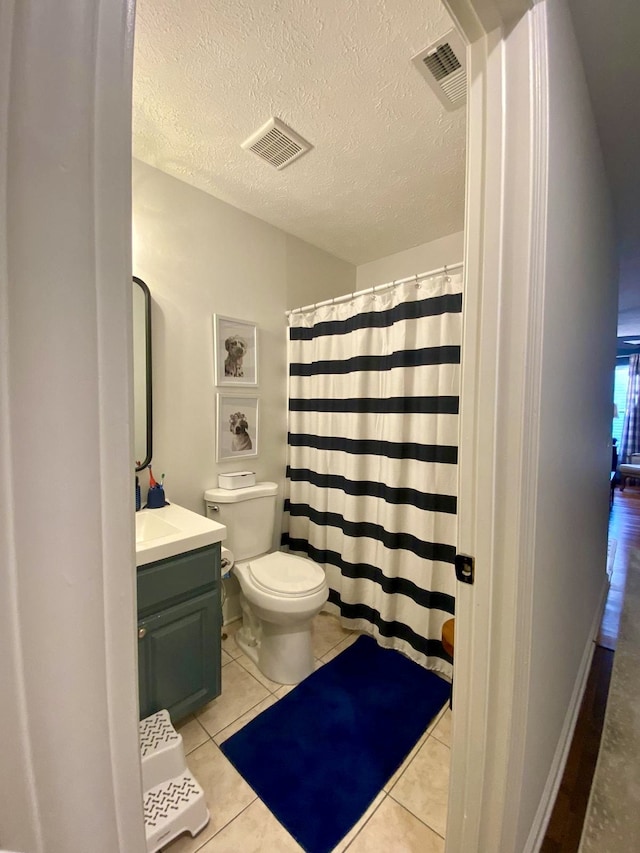
[[[313,672],[311,620],[329,596],[324,571],[305,557],[269,553],[278,487],[209,489],[207,516],[224,524],[224,545],[235,557],[242,590],[242,628],[236,641],[272,681],[298,684]]]

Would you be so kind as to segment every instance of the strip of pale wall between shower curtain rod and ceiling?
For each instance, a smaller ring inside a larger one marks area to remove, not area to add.
[[[430,243],[396,252],[377,261],[360,264],[356,272],[356,288],[364,290],[376,284],[386,284],[399,278],[438,269],[445,264],[457,264],[462,260],[464,234],[457,231]]]

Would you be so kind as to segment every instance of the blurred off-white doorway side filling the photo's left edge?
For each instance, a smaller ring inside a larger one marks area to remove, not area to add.
[[[0,847],[23,853],[146,849],[132,21],[128,2],[0,4]]]

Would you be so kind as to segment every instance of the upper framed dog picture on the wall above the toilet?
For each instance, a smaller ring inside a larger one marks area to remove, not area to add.
[[[258,384],[258,329],[255,323],[213,315],[216,385]]]

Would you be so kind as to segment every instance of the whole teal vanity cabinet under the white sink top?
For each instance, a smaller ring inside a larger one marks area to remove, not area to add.
[[[220,695],[220,544],[140,566],[140,718],[179,720]]]

